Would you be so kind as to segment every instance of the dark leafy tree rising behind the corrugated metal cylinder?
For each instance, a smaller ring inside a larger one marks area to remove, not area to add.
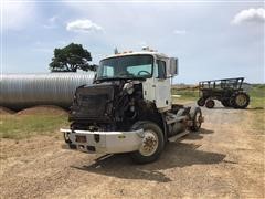
[[[62,49],[54,49],[54,57],[49,64],[52,72],[96,71],[96,65],[89,65],[91,53],[82,44],[71,43]]]

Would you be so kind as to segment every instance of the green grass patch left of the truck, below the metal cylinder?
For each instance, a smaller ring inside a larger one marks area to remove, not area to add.
[[[67,116],[62,115],[1,115],[0,138],[21,139],[34,135],[51,135],[67,125]]]

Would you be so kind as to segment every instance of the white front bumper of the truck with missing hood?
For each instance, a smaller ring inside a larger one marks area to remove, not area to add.
[[[97,154],[117,154],[138,150],[144,130],[134,132],[89,132],[60,129],[65,142],[82,151]]]

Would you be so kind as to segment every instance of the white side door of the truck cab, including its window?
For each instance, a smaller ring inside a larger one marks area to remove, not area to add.
[[[171,84],[167,77],[166,59],[158,59],[155,64],[155,94],[158,108],[170,108],[171,106]]]

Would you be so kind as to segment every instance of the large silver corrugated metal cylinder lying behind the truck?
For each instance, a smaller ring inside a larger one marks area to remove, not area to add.
[[[0,81],[0,106],[22,109],[34,105],[70,107],[75,88],[92,84],[93,72],[2,74]]]

